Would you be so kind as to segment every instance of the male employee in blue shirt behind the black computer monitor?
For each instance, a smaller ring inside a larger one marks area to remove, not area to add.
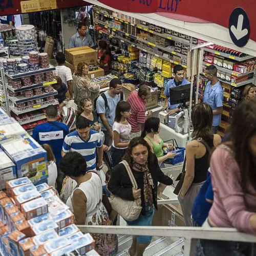
[[[176,112],[179,112],[179,109],[177,108],[177,106],[179,104],[174,104],[171,105],[170,104],[170,94],[169,94],[169,89],[172,87],[176,87],[176,86],[184,86],[185,84],[190,83],[188,80],[186,80],[184,78],[184,68],[181,65],[176,65],[174,67],[174,74],[175,74],[175,78],[171,79],[167,82],[166,87],[164,89],[163,94],[166,96],[165,97],[165,105],[163,107],[163,110],[167,110],[170,109],[169,114],[173,115]]]

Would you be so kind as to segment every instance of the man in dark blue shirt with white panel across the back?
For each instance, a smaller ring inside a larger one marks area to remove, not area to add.
[[[58,114],[57,106],[50,105],[46,108],[47,122],[35,126],[32,137],[40,144],[49,144],[52,147],[56,164],[61,159],[61,149],[66,135],[69,134],[69,127],[56,121]]]

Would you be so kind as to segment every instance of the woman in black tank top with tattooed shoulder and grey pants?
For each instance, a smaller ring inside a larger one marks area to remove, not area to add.
[[[207,179],[210,151],[221,143],[220,135],[211,131],[212,116],[212,109],[206,103],[196,105],[191,112],[193,140],[186,145],[186,172],[178,195],[186,226],[193,226],[191,209]]]

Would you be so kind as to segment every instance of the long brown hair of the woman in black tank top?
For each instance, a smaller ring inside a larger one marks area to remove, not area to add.
[[[211,130],[213,113],[211,107],[206,103],[200,103],[195,106],[191,112],[191,121],[194,127],[193,139],[210,139],[214,137]]]

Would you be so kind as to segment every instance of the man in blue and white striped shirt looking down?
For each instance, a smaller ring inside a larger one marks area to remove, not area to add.
[[[61,156],[68,152],[80,153],[87,162],[87,170],[102,169],[103,167],[103,144],[100,133],[90,129],[88,119],[79,116],[76,120],[76,131],[65,137]],[[98,163],[96,156],[98,155]]]

